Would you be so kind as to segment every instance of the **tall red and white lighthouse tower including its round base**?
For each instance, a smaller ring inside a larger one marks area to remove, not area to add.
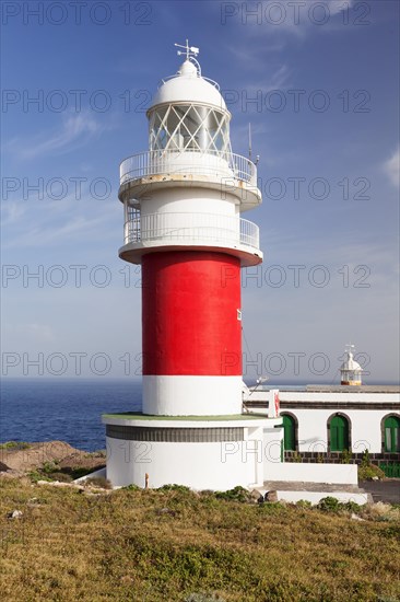
[[[184,61],[146,113],[149,149],[120,165],[119,256],[142,269],[143,396],[142,413],[103,416],[107,477],[255,486],[273,427],[243,413],[240,268],[262,253],[242,213],[261,204],[257,167],[232,152],[231,113],[199,49],[176,46]]]

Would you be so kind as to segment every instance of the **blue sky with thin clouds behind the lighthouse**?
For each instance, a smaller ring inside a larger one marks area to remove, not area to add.
[[[145,108],[188,37],[227,101],[234,152],[251,123],[260,155],[246,380],[332,382],[350,341],[365,382],[399,380],[398,2],[1,9],[2,375],[140,374],[118,165],[146,150]]]

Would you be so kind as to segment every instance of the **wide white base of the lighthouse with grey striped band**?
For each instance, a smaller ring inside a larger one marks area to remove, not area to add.
[[[197,490],[226,490],[262,486],[264,429],[281,419],[119,414],[103,416],[103,422],[113,486],[156,488],[176,483]]]

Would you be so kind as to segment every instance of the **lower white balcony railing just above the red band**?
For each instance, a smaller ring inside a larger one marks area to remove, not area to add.
[[[259,229],[251,221],[217,213],[136,213],[125,223],[125,244],[145,241],[203,241],[221,246],[259,248]]]

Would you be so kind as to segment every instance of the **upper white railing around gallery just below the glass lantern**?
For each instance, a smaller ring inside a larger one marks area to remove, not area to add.
[[[119,169],[120,185],[150,175],[187,173],[246,182],[257,186],[257,167],[246,157],[223,151],[154,150],[128,157]]]

